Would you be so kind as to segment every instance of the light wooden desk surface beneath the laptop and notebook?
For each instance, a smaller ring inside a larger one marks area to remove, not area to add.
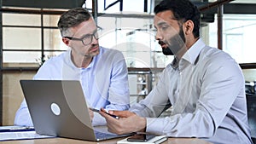
[[[115,144],[117,141],[124,139],[112,139],[108,141],[80,141],[66,138],[49,138],[35,140],[20,140],[20,141],[1,141],[1,144]],[[211,144],[210,142],[196,138],[169,138],[163,144]]]

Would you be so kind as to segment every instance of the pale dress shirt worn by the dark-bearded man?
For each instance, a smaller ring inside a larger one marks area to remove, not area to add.
[[[172,106],[166,118],[155,118]],[[130,108],[147,118],[147,132],[198,137],[214,144],[252,143],[241,67],[199,39],[177,63],[166,66],[146,99]]]

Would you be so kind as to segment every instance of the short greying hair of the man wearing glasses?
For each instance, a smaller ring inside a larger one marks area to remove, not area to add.
[[[61,14],[58,22],[58,28],[61,32],[61,36],[65,36],[68,33],[68,29],[73,26],[78,26],[84,20],[89,20],[91,14],[87,9],[75,8],[70,9],[67,12]]]

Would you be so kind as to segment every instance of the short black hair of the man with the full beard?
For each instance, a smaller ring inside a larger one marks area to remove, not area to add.
[[[194,37],[199,37],[200,12],[189,0],[163,0],[154,7],[154,14],[171,10],[176,20],[192,20]]]

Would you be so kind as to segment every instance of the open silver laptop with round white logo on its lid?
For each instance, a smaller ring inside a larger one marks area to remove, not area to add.
[[[127,136],[91,125],[79,81],[20,80],[20,85],[38,134],[88,141]]]

